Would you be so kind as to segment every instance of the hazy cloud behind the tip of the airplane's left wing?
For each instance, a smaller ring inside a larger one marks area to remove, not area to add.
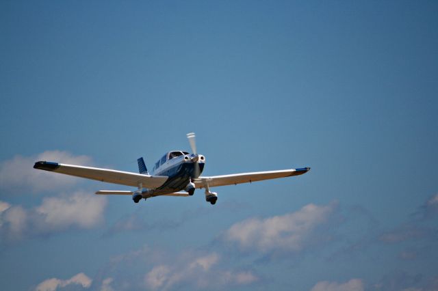
[[[36,161],[54,161],[73,165],[92,165],[89,156],[74,156],[59,150],[42,152],[36,156],[14,156],[0,163],[0,189],[16,193],[38,193],[65,189],[78,178],[34,169]]]

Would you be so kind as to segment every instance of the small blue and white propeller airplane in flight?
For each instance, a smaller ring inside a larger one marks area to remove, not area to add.
[[[160,158],[149,174],[144,164],[144,159],[138,158],[139,174],[128,171],[116,171],[114,169],[101,169],[95,167],[83,167],[79,165],[67,165],[47,161],[38,161],[34,169],[54,171],[55,173],[77,176],[102,182],[122,184],[137,187],[136,191],[97,191],[98,195],[131,195],[134,202],[140,199],[155,196],[192,196],[196,189],[205,189],[205,200],[210,204],[216,204],[218,193],[211,192],[210,188],[231,184],[241,184],[261,180],[298,176],[307,173],[309,167],[300,169],[285,169],[279,171],[258,171],[252,173],[231,174],[222,176],[203,177],[205,156],[196,151],[194,133],[187,134],[192,154],[182,150],[168,152]]]

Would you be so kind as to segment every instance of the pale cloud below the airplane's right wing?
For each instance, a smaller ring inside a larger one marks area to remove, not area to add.
[[[326,223],[337,203],[326,206],[308,204],[296,212],[266,219],[250,218],[231,225],[223,239],[237,243],[241,249],[270,251],[300,251],[315,243],[313,232]]]

